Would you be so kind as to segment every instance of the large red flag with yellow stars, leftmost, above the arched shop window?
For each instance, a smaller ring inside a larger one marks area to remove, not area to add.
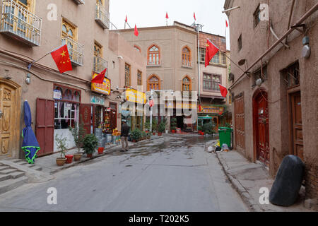
[[[55,64],[57,64],[60,73],[72,71],[71,59],[69,58],[69,51],[67,50],[66,44],[51,52],[51,55],[55,61]]]

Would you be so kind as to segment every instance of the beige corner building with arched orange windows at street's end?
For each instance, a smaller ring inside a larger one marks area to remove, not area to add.
[[[134,48],[141,52],[147,58],[147,73],[146,73],[146,90],[166,90],[167,92],[180,91],[182,93],[182,101],[195,100],[192,104],[188,105],[189,111],[196,110],[196,117],[198,115],[198,98],[184,97],[184,91],[199,91],[199,76],[198,76],[198,32],[196,29],[189,25],[175,22],[171,26],[139,28],[139,36],[134,36],[134,29],[116,30],[112,32],[119,32],[125,40],[131,43]],[[206,38],[211,37],[218,41],[220,44],[221,52],[211,61],[211,64],[204,68],[204,57],[206,48]],[[216,118],[219,123],[220,112],[223,114],[225,107],[220,106],[225,104],[226,100],[220,95],[218,84],[226,86],[228,61],[221,58],[223,53],[226,52],[225,37],[219,37],[204,32],[199,33],[201,54],[204,57],[200,61],[200,74],[201,74],[201,95],[204,106],[208,112],[201,112],[200,114],[210,114]],[[219,42],[223,40],[223,42]],[[203,60],[203,61],[202,61]],[[204,81],[204,75],[210,76],[210,81]],[[218,78],[218,81],[213,80],[213,76]],[[204,86],[206,84],[206,86]],[[216,86],[213,90],[212,86]],[[204,88],[205,87],[205,88]],[[205,99],[206,98],[206,99]],[[213,101],[215,100],[215,101]],[[219,102],[217,100],[220,100]],[[216,108],[216,113],[210,110],[210,106]],[[164,115],[168,115],[167,111],[173,109],[172,117],[177,118],[177,127],[183,129],[189,124],[192,124],[191,129],[197,129],[197,121],[189,121],[189,117],[182,113],[177,114],[177,109],[184,107],[181,103],[176,102],[165,103],[167,108]],[[157,111],[160,114],[160,110]],[[211,121],[213,117],[211,118]],[[158,117],[163,119],[163,117]],[[168,121],[171,117],[167,117]],[[187,119],[188,118],[188,119]],[[204,121],[200,121],[203,123]],[[168,125],[169,126],[169,125]],[[169,128],[167,128],[169,129]]]

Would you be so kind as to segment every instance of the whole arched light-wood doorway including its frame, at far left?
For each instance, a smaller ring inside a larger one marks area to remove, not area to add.
[[[0,78],[0,158],[11,157],[13,149],[19,150],[20,133],[16,131],[20,128],[19,88]]]

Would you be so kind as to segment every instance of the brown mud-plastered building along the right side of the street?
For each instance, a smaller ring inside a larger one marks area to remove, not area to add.
[[[235,148],[272,176],[298,155],[306,196],[317,198],[317,1],[225,1],[235,6],[227,12]]]

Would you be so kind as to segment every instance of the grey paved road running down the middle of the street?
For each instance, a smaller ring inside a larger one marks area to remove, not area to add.
[[[0,211],[247,211],[199,136],[167,136],[0,196]],[[47,189],[57,189],[57,205]]]

